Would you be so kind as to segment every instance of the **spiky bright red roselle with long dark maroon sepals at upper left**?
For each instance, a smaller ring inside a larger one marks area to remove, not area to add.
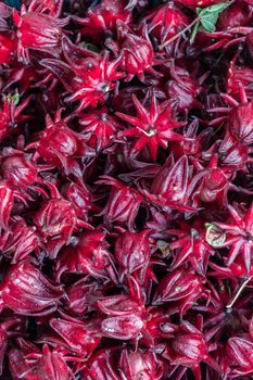
[[[91,51],[87,53],[84,49],[74,47],[66,38],[63,39],[63,52],[68,65],[50,59],[42,60],[41,65],[59,77],[71,92],[66,102],[79,101],[76,112],[90,105],[96,107],[98,104],[103,104],[110,91],[115,88],[116,81],[124,76],[124,73],[117,71],[122,56],[110,62],[109,52],[103,56]],[[77,54],[80,59],[75,60]]]

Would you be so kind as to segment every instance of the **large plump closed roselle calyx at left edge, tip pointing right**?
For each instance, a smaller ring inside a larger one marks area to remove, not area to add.
[[[9,307],[22,315],[52,313],[63,296],[62,287],[53,286],[27,261],[15,264],[0,287],[1,309]]]

